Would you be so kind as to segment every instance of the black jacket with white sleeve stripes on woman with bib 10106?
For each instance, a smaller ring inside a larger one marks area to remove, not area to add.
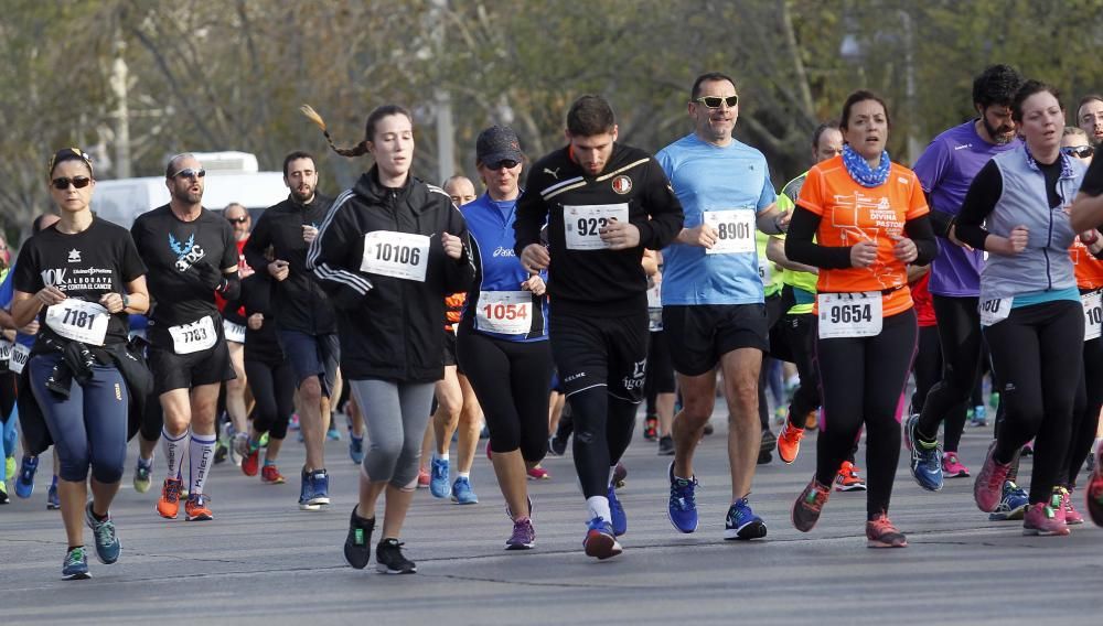
[[[430,238],[424,282],[360,269],[365,235],[377,230]],[[458,260],[445,255],[445,233],[463,241]],[[470,250],[467,223],[448,194],[413,176],[401,188],[386,188],[373,166],[338,196],[310,246],[307,267],[336,309],[346,378],[431,382],[443,377],[445,295],[471,284]]]

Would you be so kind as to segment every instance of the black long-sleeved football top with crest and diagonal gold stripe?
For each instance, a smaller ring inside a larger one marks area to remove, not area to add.
[[[627,250],[568,250],[564,206],[629,205],[629,222],[640,229],[640,245]],[[558,311],[601,317],[647,309],[647,277],[640,265],[644,248],[661,250],[677,237],[682,203],[658,162],[643,150],[613,145],[604,171],[589,176],[569,155],[569,147],[552,152],[528,172],[517,199],[514,251],[542,244],[547,224],[548,293],[552,315]]]

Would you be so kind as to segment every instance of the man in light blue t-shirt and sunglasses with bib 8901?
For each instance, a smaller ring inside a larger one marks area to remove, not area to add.
[[[778,211],[761,152],[731,137],[739,118],[735,82],[698,76],[689,96],[694,132],[655,156],[685,207],[685,227],[663,250],[663,331],[672,350],[682,410],[674,417],[667,512],[682,532],[697,529],[693,455],[716,404],[716,368],[728,403],[731,500],[725,539],[765,537],[748,496],[762,443],[759,373],[770,349],[756,228],[777,235]]]

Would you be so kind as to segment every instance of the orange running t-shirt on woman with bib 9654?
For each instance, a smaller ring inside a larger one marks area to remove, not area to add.
[[[808,171],[796,204],[820,216],[818,245],[877,245],[877,260],[868,268],[822,270],[816,283],[821,293],[892,290],[882,300],[886,317],[912,306],[907,267],[892,256],[892,236],[907,236],[904,223],[930,213],[914,172],[892,163],[884,185],[864,187],[847,173],[843,158],[835,156]]]

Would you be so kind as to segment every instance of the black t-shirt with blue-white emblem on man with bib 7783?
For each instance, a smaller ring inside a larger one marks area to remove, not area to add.
[[[151,328],[189,324],[206,315],[218,319],[214,290],[199,280],[192,266],[206,263],[221,273],[237,265],[228,222],[205,208],[194,220],[183,222],[164,205],[139,215],[130,235],[149,267]],[[150,341],[158,344],[153,334]]]

